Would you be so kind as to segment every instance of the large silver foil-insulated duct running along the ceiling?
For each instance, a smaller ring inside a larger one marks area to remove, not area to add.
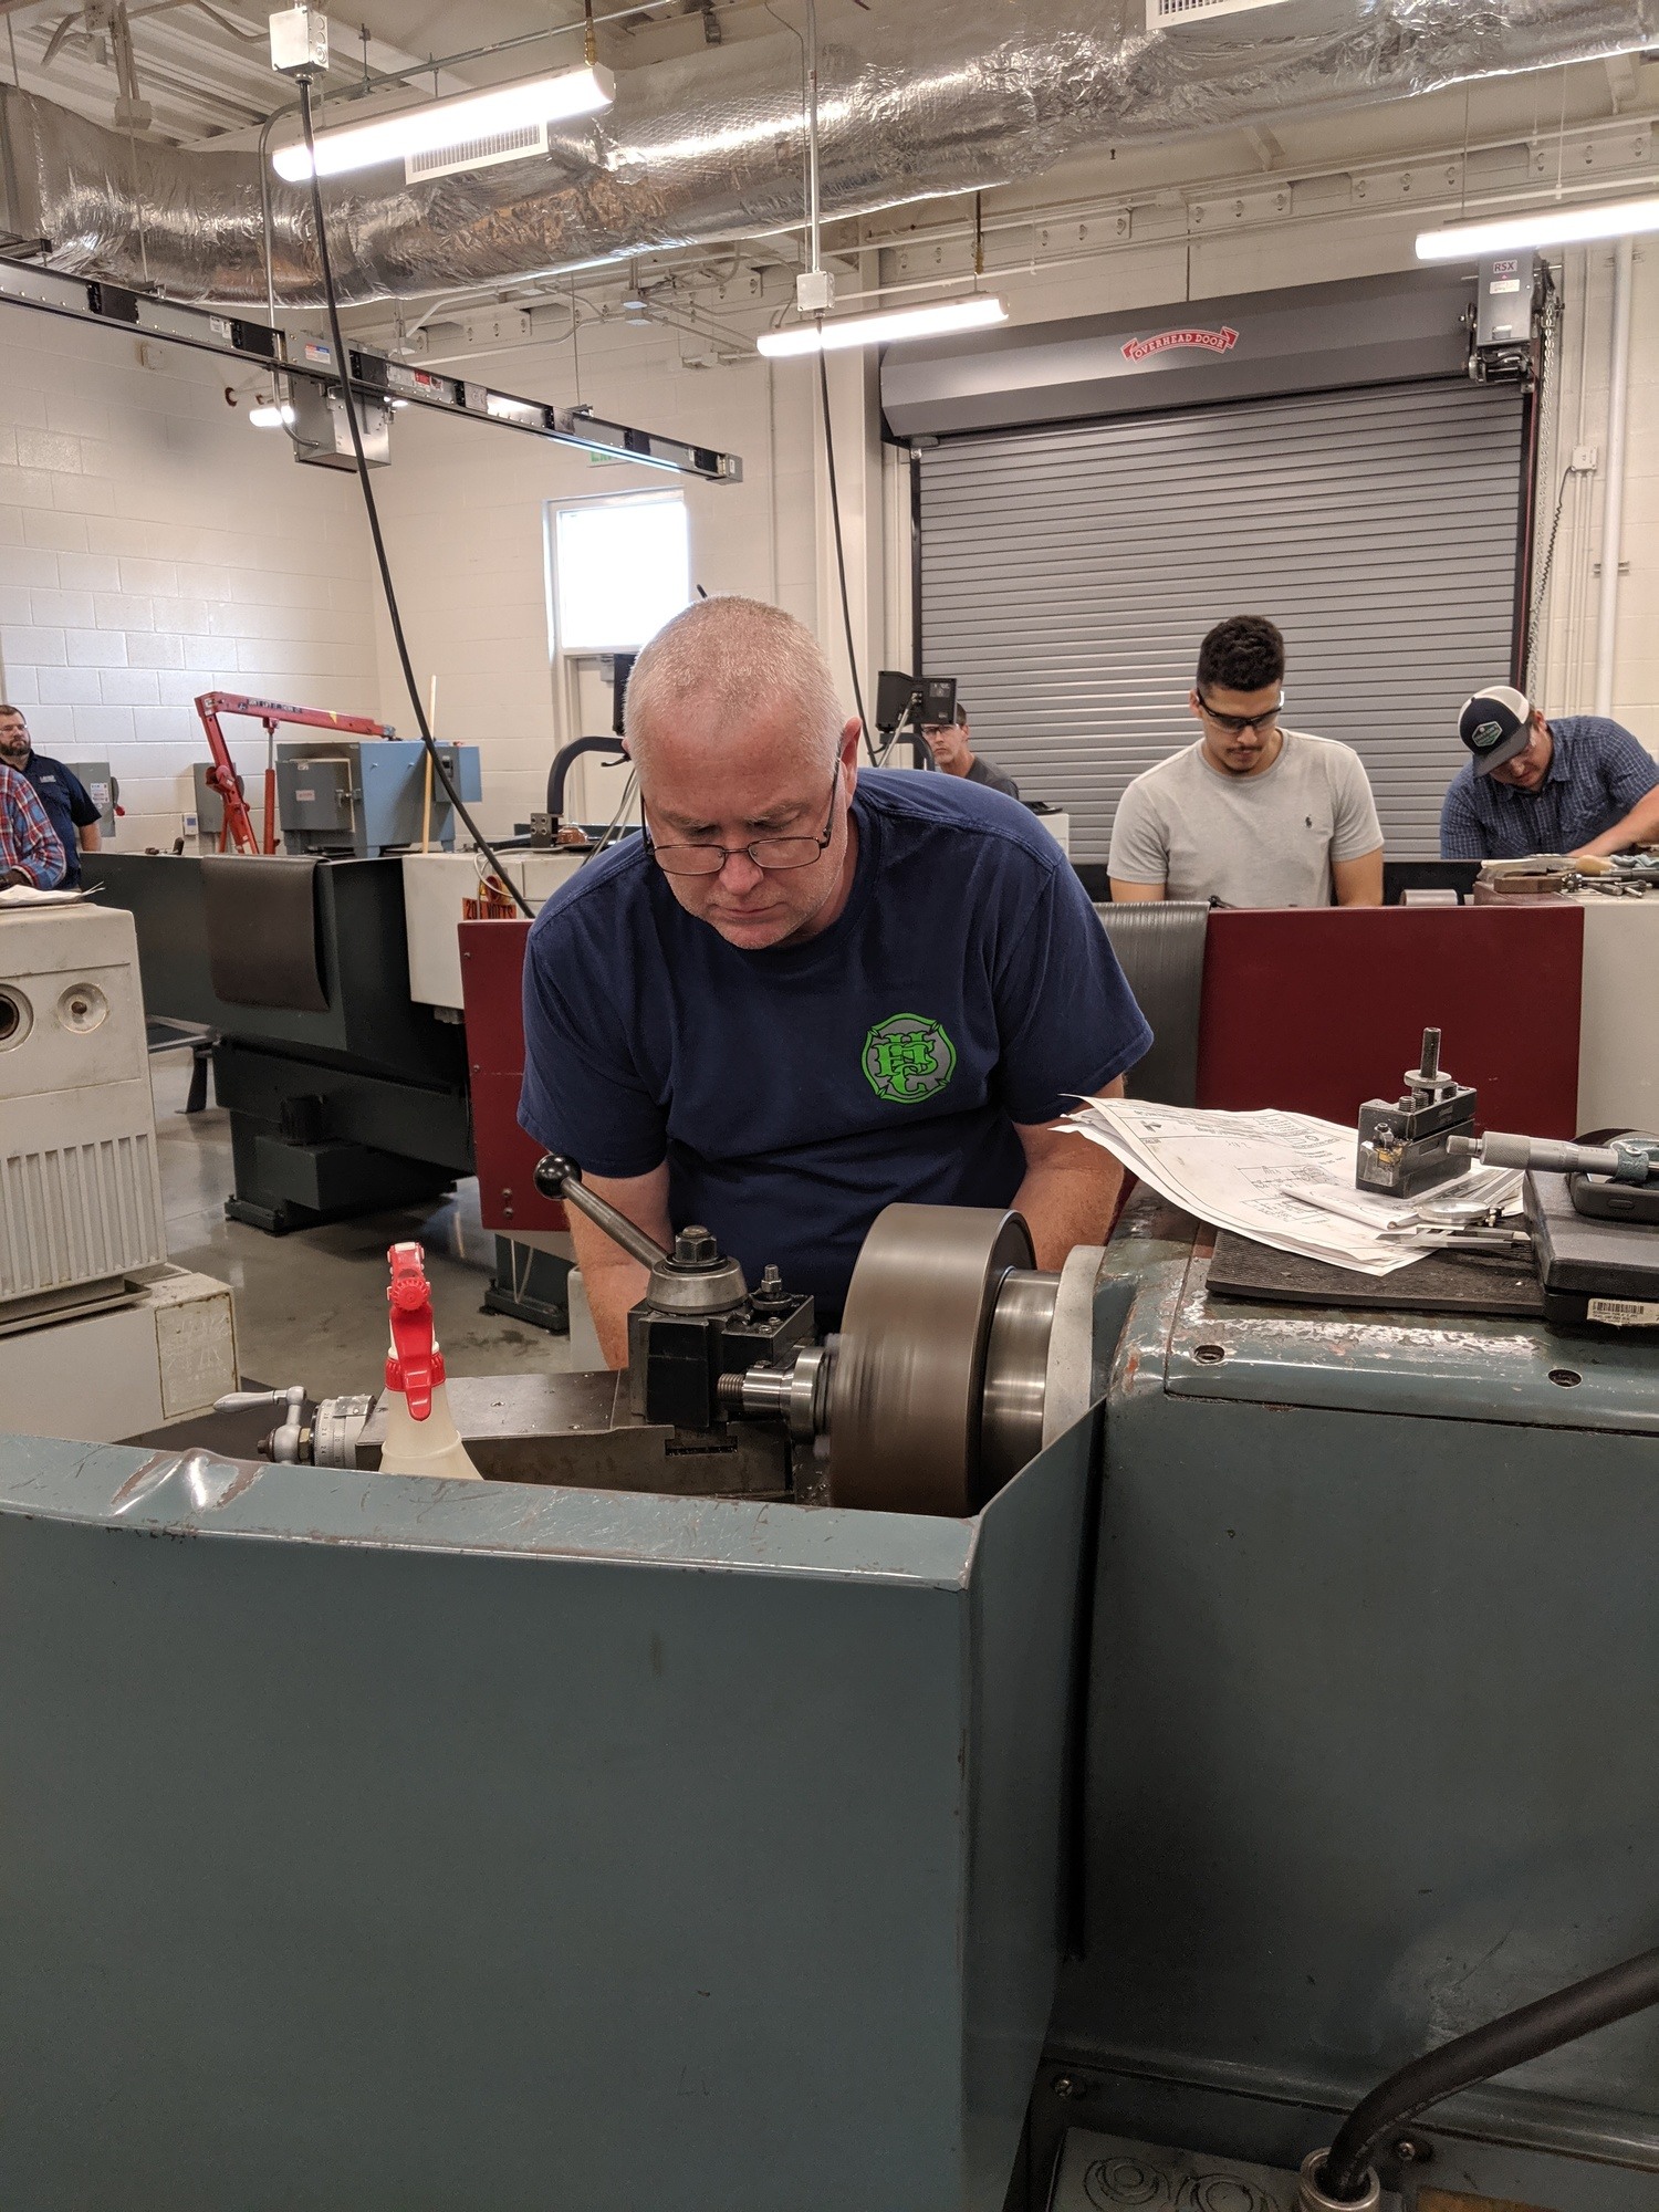
[[[1290,35],[1274,35],[1281,18]],[[1659,0],[1307,0],[1148,33],[1146,0],[902,0],[821,58],[823,212],[1011,184],[1104,144],[1402,100],[1630,53]],[[250,153],[179,153],[0,88],[0,219],[58,268],[192,301],[263,301]],[[511,283],[653,248],[799,223],[801,44],[732,40],[619,80],[602,119],[529,161],[332,190],[349,301]],[[299,192],[274,188],[276,299],[319,299]]]

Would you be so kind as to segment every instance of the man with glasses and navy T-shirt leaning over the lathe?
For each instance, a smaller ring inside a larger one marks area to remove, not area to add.
[[[1150,1031],[1055,841],[958,776],[858,770],[810,630],[703,599],[628,681],[646,823],[542,909],[520,1121],[659,1241],[701,1221],[834,1318],[883,1206],[1018,1206],[1040,1267],[1121,1170],[1057,1124]],[[646,1274],[571,1214],[611,1365]]]

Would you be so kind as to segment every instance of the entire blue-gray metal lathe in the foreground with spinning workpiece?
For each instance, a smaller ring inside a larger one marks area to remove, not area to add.
[[[626,1376],[451,1383],[482,1482],[369,1389],[0,1440],[0,2201],[1659,2203],[1652,2011],[1298,2179],[1659,1940],[1652,1334],[1234,1301],[1148,1194],[894,1208],[836,1338],[641,1256]]]

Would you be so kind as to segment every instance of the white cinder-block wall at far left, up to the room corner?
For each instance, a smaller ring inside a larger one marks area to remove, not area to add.
[[[250,429],[230,363],[150,358],[126,330],[0,307],[0,697],[42,752],[111,763],[124,849],[168,847],[195,805],[197,692],[378,701],[356,484]],[[237,730],[257,803],[265,734]]]

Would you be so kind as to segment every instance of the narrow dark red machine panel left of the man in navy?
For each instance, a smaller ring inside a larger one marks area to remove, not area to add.
[[[542,1146],[518,1126],[524,1082],[526,920],[460,925],[460,995],[467,1009],[467,1071],[473,1093],[478,1206],[502,1237],[568,1228],[564,1208],[535,1188]]]

